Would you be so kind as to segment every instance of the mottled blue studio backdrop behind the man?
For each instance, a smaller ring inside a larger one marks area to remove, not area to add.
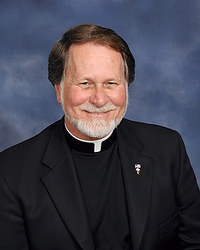
[[[200,183],[199,0],[0,0],[0,150],[62,116],[47,57],[80,23],[125,38],[137,65],[126,117],[178,130]]]

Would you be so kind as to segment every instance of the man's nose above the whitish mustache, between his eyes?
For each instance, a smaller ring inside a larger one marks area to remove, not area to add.
[[[96,107],[102,107],[108,102],[106,90],[102,85],[95,86],[90,97],[90,102]]]

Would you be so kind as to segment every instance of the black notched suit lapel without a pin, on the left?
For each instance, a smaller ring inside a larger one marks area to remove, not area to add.
[[[61,122],[51,135],[43,164],[51,170],[42,182],[58,213],[82,249],[94,250],[84,198]]]

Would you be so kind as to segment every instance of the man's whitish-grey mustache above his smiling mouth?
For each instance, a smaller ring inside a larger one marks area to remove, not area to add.
[[[116,109],[116,106],[112,103],[106,103],[102,107],[96,107],[93,104],[85,103],[80,107],[81,110],[89,113],[105,113]]]

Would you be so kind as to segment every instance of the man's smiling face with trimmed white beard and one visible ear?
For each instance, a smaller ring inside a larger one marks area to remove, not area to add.
[[[108,135],[127,107],[122,56],[92,42],[70,47],[63,81],[55,85],[68,130],[83,140]]]

